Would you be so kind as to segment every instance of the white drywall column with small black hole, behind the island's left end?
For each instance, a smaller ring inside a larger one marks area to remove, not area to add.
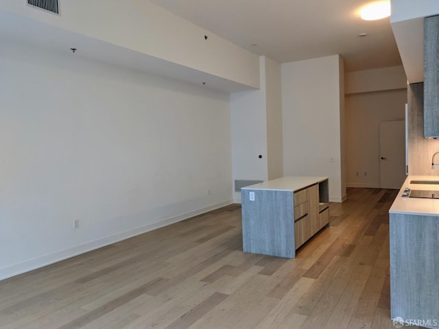
[[[233,180],[281,177],[281,64],[261,56],[261,88],[230,94]],[[261,158],[259,158],[261,156]],[[241,193],[233,192],[241,202]]]

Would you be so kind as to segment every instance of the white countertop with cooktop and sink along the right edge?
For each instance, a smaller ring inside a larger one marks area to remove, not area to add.
[[[404,188],[411,190],[438,191],[439,184],[411,184],[412,180],[434,180],[439,182],[439,176],[417,176],[409,175],[405,180],[401,190],[399,190],[396,199],[390,207],[391,214],[410,214],[410,215],[438,215],[439,216],[439,199],[423,199],[418,197],[402,197]]]

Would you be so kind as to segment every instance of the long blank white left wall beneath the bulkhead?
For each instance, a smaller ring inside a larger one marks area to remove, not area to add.
[[[228,94],[3,40],[0,59],[0,280],[232,202]]]

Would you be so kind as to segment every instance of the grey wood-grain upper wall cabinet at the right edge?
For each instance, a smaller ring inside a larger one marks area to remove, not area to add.
[[[439,136],[439,16],[424,19],[424,136]]]

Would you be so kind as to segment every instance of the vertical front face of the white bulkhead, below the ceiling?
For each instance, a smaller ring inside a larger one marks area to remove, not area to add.
[[[60,0],[59,7],[60,16],[26,1],[0,3],[0,10],[259,88],[259,56],[150,1]]]

